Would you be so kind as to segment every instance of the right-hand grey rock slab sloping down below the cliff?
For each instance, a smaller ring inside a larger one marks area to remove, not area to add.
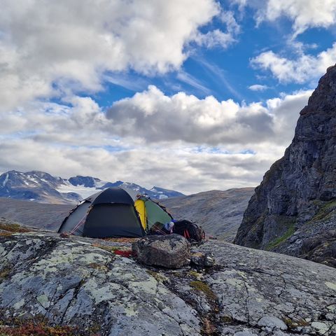
[[[202,281],[216,293],[226,325],[249,325],[260,332],[268,328],[279,335],[336,332],[336,269],[224,242],[200,246],[200,252],[210,251],[216,270]]]

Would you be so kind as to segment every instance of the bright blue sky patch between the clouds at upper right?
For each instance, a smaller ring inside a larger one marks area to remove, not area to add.
[[[106,83],[105,90],[95,96],[96,101],[101,106],[111,106],[116,100],[130,97],[139,90],[146,90],[150,84],[168,95],[183,91],[195,94],[199,98],[211,94],[218,100],[232,98],[246,103],[265,102],[266,99],[279,95],[279,92],[294,92],[316,86],[316,78],[311,82],[281,83],[269,71],[253,69],[251,59],[268,50],[295,59],[298,55],[295,43],[302,43],[307,54],[316,57],[323,50],[332,48],[335,27],[307,29],[290,43],[293,22],[286,16],[276,22],[262,22],[257,26],[253,17],[255,12],[251,8],[246,8],[241,13],[237,5],[230,6],[228,3],[230,1],[226,1],[223,6],[235,13],[240,29],[235,37],[236,41],[233,41],[230,47],[222,48],[221,45],[217,45],[214,48],[199,48],[197,45],[191,45],[188,50],[190,56],[178,71],[171,71],[162,76],[141,76],[135,71],[127,71],[120,74],[120,77],[132,83],[137,82],[137,85],[125,87],[123,84]],[[201,27],[200,31],[207,32],[209,29],[223,29],[223,24],[213,20],[209,25]],[[211,68],[218,69],[218,73],[211,71]],[[189,78],[189,83],[183,78]],[[248,88],[251,85],[267,85],[268,88],[253,91]]]

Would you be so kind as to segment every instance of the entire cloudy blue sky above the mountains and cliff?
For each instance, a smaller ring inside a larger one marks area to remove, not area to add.
[[[0,173],[257,186],[336,63],[336,0],[0,8]]]

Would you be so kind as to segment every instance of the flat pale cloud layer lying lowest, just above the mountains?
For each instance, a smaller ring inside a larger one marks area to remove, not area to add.
[[[20,155],[11,155],[17,153]],[[32,140],[8,141],[1,146],[0,169],[20,171],[41,169],[69,177],[75,174],[98,176],[107,181],[132,181],[196,193],[204,190],[256,186],[260,169],[268,169],[274,153],[244,155],[197,153],[195,148],[168,146],[134,148],[112,153],[104,148],[61,147]],[[181,178],[183,176],[183,178]]]

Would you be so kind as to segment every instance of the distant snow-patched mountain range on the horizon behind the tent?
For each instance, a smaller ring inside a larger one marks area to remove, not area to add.
[[[45,172],[17,172],[11,170],[0,175],[0,197],[30,200],[41,203],[69,204],[109,187],[120,186],[162,200],[184,196],[174,190],[153,187],[150,190],[135,183],[102,181],[92,176],[73,176],[70,179],[52,176]]]

